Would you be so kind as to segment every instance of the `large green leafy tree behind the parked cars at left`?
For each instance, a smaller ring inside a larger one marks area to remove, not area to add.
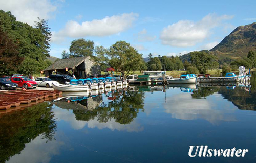
[[[46,22],[42,27],[46,25]],[[16,21],[16,18],[11,12],[0,10],[0,27],[18,46],[16,56],[20,57],[20,63],[16,66],[18,69],[13,69],[13,73],[33,74],[39,72],[41,68],[47,65],[46,57],[49,54],[46,33],[39,26],[33,28],[28,24]],[[31,69],[31,71],[28,72],[26,67],[27,69]],[[0,68],[4,69],[4,67]]]

